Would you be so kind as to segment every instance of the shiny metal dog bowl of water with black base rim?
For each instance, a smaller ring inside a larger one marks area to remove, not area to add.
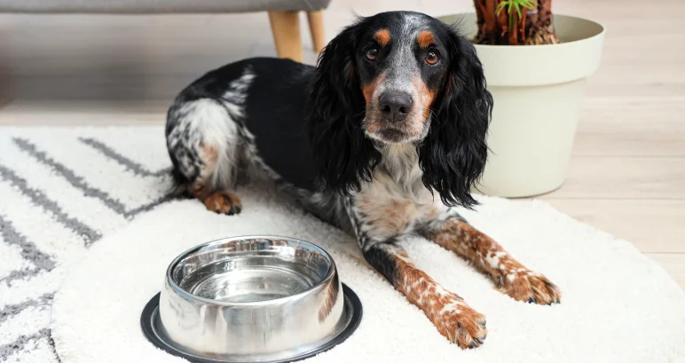
[[[248,236],[177,256],[141,325],[154,345],[194,362],[289,362],[342,343],[360,320],[324,249]]]

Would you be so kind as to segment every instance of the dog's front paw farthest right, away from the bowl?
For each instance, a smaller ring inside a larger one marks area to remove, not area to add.
[[[515,300],[543,305],[561,303],[562,291],[540,273],[520,269],[501,275],[498,282],[500,291]]]

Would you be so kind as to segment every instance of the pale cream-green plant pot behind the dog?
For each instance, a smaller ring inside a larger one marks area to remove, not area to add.
[[[476,14],[438,18],[476,36]],[[555,15],[562,43],[479,45],[494,107],[490,154],[476,191],[525,197],[555,190],[571,159],[586,79],[599,67],[604,28],[581,18]]]

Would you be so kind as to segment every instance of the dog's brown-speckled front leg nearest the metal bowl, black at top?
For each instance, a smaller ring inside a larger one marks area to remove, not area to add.
[[[364,256],[410,303],[419,307],[450,342],[462,349],[484,343],[487,335],[484,315],[417,268],[404,249],[393,243],[375,243],[366,249]]]

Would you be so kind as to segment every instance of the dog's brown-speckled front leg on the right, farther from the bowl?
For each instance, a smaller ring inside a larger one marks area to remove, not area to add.
[[[490,276],[501,292],[518,301],[559,303],[562,292],[547,277],[516,261],[499,243],[469,225],[453,209],[429,222],[424,236],[464,257]]]

